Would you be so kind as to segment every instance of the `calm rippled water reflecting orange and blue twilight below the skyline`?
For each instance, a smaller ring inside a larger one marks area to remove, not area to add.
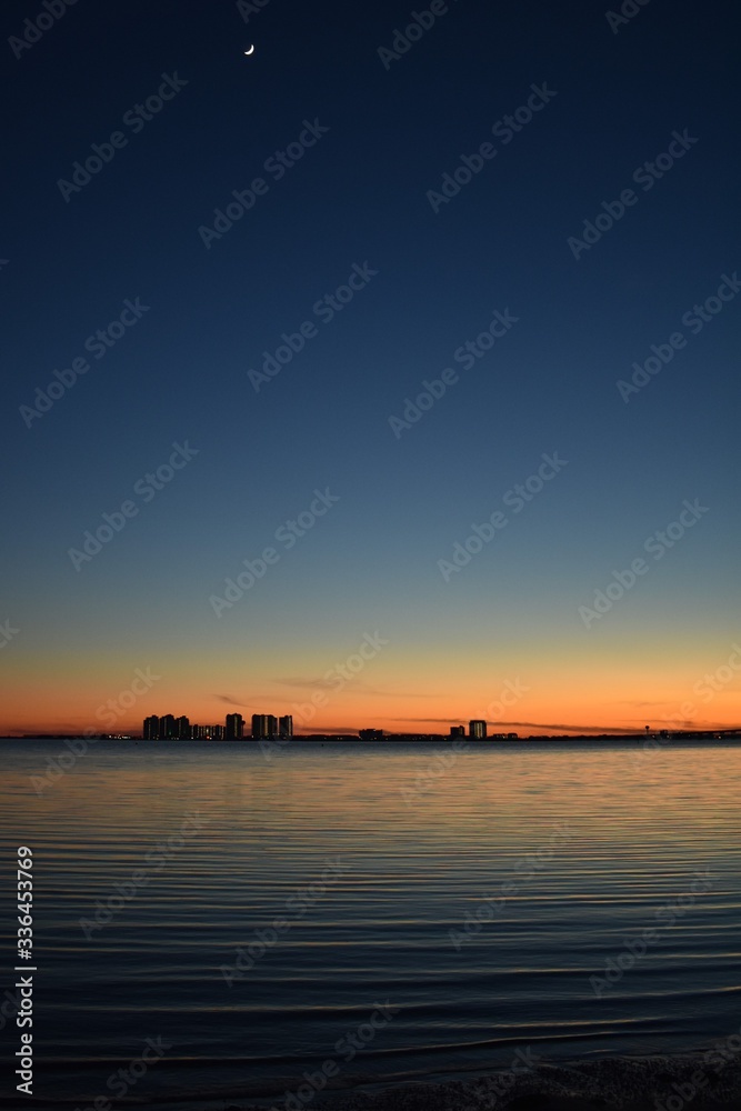
[[[282,1107],[328,1059],[370,1088],[507,1067],[518,1047],[653,1053],[739,1029],[741,747],[474,748],[444,769],[445,747],[294,743],[268,762],[101,741],[37,794],[29,777],[66,751],[0,744],[1,927],[14,939],[28,844],[46,1105],[117,1094],[109,1077],[149,1038],[172,1045],[129,1090],[144,1105]],[[97,901],[112,917],[88,939]],[[652,929],[598,995],[590,977]],[[3,1037],[14,1050],[12,1020]]]

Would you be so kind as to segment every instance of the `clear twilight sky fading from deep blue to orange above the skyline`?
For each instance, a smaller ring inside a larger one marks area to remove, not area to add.
[[[734,10],[652,0],[614,33],[601,6],[450,0],[387,69],[379,48],[425,8],[270,0],[246,23],[230,2],[82,2],[17,58],[37,7],[4,6],[0,731],[232,709],[309,731],[741,722],[741,292],[682,321],[741,268]],[[158,114],[122,123],[176,72]],[[511,141],[492,134],[543,84],[555,96]],[[329,131],[276,180],[266,160],[307,120]],[[60,179],[116,131],[127,144],[66,200]],[[645,189],[633,172],[673,132],[697,142]],[[433,211],[485,142],[495,156]],[[258,177],[267,193],[207,248],[199,228]],[[574,258],[569,238],[631,188]],[[324,322],[312,307],[353,264],[378,272]],[[141,319],[29,421],[37,388],[137,298]],[[517,323],[454,362],[493,310]],[[308,320],[257,392],[249,371]],[[675,332],[685,346],[623,400]],[[389,419],[448,367],[457,383],[397,436]],[[134,490],[186,442],[171,481]],[[554,453],[565,466],[508,508]],[[327,489],[339,500],[288,550],[277,530]],[[128,500],[76,569],[70,549]],[[702,512],[657,559],[644,544],[685,500]],[[507,527],[443,573],[497,510]],[[608,612],[580,613],[638,558]],[[388,643],[338,679],[366,634]],[[159,678],[106,720],[137,669]]]

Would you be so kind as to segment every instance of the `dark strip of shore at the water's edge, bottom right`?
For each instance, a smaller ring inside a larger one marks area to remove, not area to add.
[[[740,1039],[741,1041],[741,1039]],[[323,1097],[323,1098],[322,1098]],[[284,1099],[273,1104],[287,1111]],[[514,1075],[413,1083],[377,1091],[317,1093],[292,1111],[741,1111],[741,1052],[540,1062]],[[223,1108],[223,1104],[222,1104]],[[224,1111],[266,1111],[231,1103]]]

